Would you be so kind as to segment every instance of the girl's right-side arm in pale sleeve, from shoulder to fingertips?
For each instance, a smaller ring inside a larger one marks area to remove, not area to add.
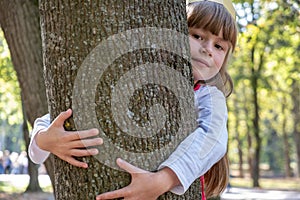
[[[197,129],[159,166],[158,172],[142,170],[141,173],[139,168],[132,171],[124,168],[124,164],[119,165],[131,174],[131,184],[120,190],[101,194],[97,199],[139,199],[139,195],[144,194],[142,199],[151,200],[169,190],[175,194],[183,194],[195,179],[221,159],[226,152],[228,140],[225,97],[216,87],[203,86],[195,93],[195,106],[198,112]],[[129,163],[126,165],[132,166]],[[163,178],[159,176],[162,172]],[[172,186],[172,189],[167,190],[168,187],[165,186]],[[155,191],[155,196],[152,191]]]

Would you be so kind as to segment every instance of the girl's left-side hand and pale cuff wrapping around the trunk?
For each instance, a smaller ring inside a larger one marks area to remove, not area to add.
[[[31,141],[29,145],[29,156],[37,164],[43,163],[53,153],[62,160],[82,168],[87,164],[74,158],[98,154],[96,148],[85,149],[85,147],[102,144],[101,138],[92,138],[98,135],[97,129],[84,131],[65,131],[63,124],[72,115],[72,110],[60,113],[50,124],[50,115],[38,118],[34,123]]]

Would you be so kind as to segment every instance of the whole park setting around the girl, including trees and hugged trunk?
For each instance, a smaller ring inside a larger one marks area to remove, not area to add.
[[[238,37],[224,61],[233,82],[229,184],[218,198],[300,199],[299,2],[232,2]],[[131,182],[119,157],[157,172],[194,130],[186,12],[185,0],[0,0],[0,199],[95,199]],[[35,164],[28,157],[35,120],[50,113],[52,122],[68,108],[64,130],[97,128],[99,155],[70,156],[86,169],[55,153]],[[200,184],[159,199],[199,199]]]

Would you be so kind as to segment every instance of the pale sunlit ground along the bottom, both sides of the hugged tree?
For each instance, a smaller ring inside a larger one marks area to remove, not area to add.
[[[231,178],[230,183],[240,187],[230,187],[222,195],[222,200],[300,200],[300,179],[281,178],[263,179],[265,189],[251,188],[249,178]],[[49,176],[40,175],[40,193],[23,193],[29,181],[28,175],[0,175],[0,200],[54,200]],[[245,182],[244,184],[241,184]],[[242,185],[244,187],[242,187]],[[266,189],[266,188],[269,189]],[[272,189],[271,189],[272,188]]]

